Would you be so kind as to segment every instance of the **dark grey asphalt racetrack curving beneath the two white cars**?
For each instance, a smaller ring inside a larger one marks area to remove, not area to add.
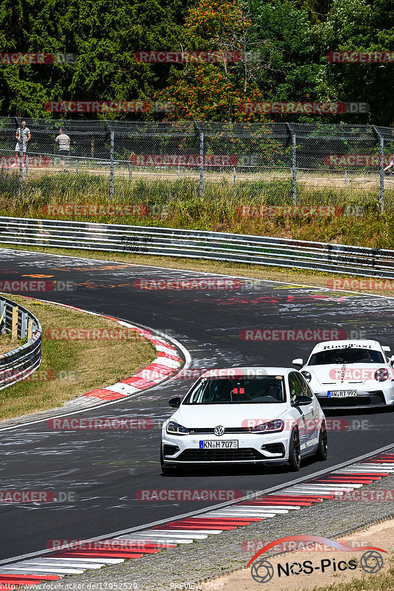
[[[35,252],[3,250],[1,254],[1,280],[48,275],[48,279],[73,281],[74,291],[52,291],[37,297],[161,330],[188,350],[191,368],[291,366],[292,359],[305,359],[315,345],[242,340],[240,332],[245,329],[339,329],[346,331],[348,338],[364,331],[364,338],[376,338],[394,350],[393,300],[385,297],[259,280],[250,286],[250,280],[242,279],[242,288],[237,290],[141,291],[134,286],[139,279],[207,275]],[[12,299],[12,294],[8,297]],[[160,420],[172,413],[168,399],[183,395],[192,383],[191,379],[172,380],[128,400],[74,416]],[[351,428],[330,431],[327,462],[305,460],[297,478],[393,442],[390,410],[326,414],[347,419]],[[361,421],[364,428],[359,428]],[[3,430],[2,490],[75,491],[79,501],[1,506],[0,522],[6,533],[0,560],[42,550],[50,540],[106,535],[213,504],[140,501],[141,490],[236,489],[246,493],[295,478],[285,467],[224,467],[165,478],[159,464],[160,434],[159,428],[55,431],[45,421]]]

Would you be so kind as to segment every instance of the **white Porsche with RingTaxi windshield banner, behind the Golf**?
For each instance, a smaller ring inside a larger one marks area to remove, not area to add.
[[[377,340],[318,343],[301,368],[318,401],[326,408],[385,407],[394,404],[394,356]]]

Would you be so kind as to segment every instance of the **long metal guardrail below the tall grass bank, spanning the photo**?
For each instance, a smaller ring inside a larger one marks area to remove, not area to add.
[[[268,236],[0,217],[0,242],[394,278],[394,251]]]

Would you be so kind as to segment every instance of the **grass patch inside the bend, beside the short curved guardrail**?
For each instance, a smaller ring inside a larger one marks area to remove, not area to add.
[[[61,407],[67,400],[137,373],[157,356],[154,346],[146,339],[48,339],[45,337],[48,329],[119,330],[122,327],[113,320],[55,304],[14,295],[10,299],[27,307],[40,320],[44,333],[43,362],[31,380],[0,390],[0,420]],[[11,346],[7,347],[8,344]],[[0,350],[11,350],[13,344],[4,336]]]

